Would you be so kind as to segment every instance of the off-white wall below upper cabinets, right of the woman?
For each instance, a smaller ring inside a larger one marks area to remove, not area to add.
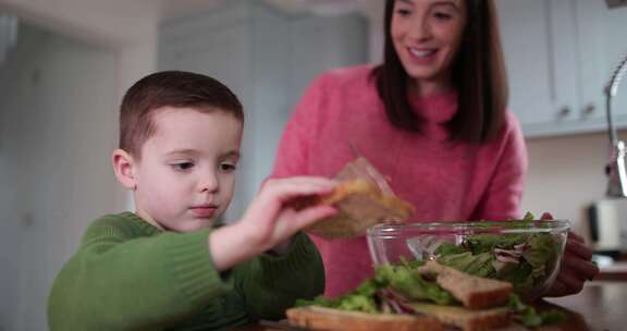
[[[619,132],[625,137],[627,132]],[[527,139],[529,175],[524,210],[550,211],[587,235],[586,208],[605,198],[608,143],[605,133]]]

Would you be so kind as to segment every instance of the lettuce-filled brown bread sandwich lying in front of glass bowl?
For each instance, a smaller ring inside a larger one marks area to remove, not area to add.
[[[336,298],[299,301],[288,322],[310,330],[442,330],[507,327],[521,317],[538,326],[554,316],[536,314],[509,282],[474,277],[437,261],[381,266],[376,277]],[[524,316],[522,316],[524,315]]]

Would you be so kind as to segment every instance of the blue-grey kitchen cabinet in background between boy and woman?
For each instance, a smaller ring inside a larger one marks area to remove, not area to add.
[[[243,158],[228,219],[241,216],[272,170],[290,113],[324,70],[365,63],[367,21],[358,14],[287,14],[262,1],[223,1],[159,28],[158,68],[208,74],[245,108]]]

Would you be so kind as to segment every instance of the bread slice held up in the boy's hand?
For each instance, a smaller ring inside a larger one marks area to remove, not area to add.
[[[297,209],[317,204],[337,208],[337,214],[307,229],[315,235],[355,237],[372,225],[404,221],[414,214],[411,204],[394,195],[383,175],[362,157],[347,163],[334,179],[340,184],[330,194],[295,201]]]

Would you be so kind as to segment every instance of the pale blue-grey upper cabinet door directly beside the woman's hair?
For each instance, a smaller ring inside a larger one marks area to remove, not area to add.
[[[551,2],[501,0],[499,14],[509,83],[509,109],[524,131],[555,120],[558,105]]]

